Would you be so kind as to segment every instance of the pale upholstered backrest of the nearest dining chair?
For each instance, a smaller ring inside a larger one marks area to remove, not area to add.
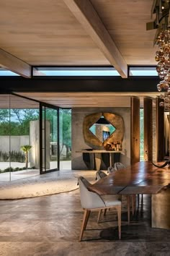
[[[105,204],[102,198],[95,192],[88,190],[90,183],[82,176],[79,177],[81,206],[85,209],[101,208]]]

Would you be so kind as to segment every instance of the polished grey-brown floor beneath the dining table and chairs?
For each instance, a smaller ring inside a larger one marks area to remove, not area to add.
[[[74,172],[94,181],[94,171]],[[0,255],[170,255],[170,231],[151,229],[151,197],[127,223],[122,202],[122,239],[117,237],[117,216],[107,211],[97,224],[91,214],[84,241],[78,242],[83,211],[79,189],[58,195],[0,201]]]

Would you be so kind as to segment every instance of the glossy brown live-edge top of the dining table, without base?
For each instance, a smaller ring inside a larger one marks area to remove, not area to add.
[[[143,161],[107,175],[91,184],[89,190],[99,195],[156,194],[168,184],[170,168],[158,168],[151,162]]]

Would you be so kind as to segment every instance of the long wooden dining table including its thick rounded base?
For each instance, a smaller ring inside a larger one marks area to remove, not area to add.
[[[88,189],[98,195],[151,195],[152,226],[170,229],[169,184],[169,166],[158,168],[150,161],[141,161],[107,175]]]

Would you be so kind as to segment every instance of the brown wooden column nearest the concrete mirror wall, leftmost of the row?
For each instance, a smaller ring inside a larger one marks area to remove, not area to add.
[[[140,99],[131,97],[130,163],[140,161]]]

